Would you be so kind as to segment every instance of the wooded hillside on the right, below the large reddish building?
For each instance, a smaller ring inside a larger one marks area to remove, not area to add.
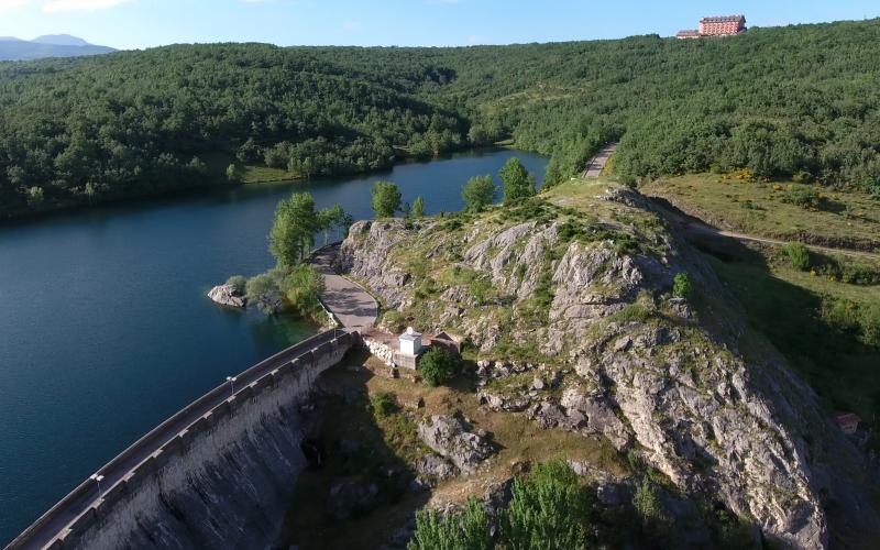
[[[551,156],[547,180],[622,140],[615,168],[652,176],[748,167],[880,194],[880,20],[751,29],[733,38],[345,51],[406,91],[462,112],[475,143],[513,136]],[[329,58],[328,51],[318,53]],[[415,79],[413,80],[415,81]]]

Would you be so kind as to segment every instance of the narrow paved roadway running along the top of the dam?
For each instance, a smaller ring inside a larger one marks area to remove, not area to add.
[[[272,371],[284,366],[293,359],[301,355],[324,342],[336,338],[339,330],[329,330],[308,340],[305,340],[272,358],[256,364],[237,376],[235,392],[240,392],[250,384],[258,381]],[[208,411],[230,399],[231,386],[222,384],[204,395],[172,418],[160,425],[153,431],[141,438],[136,443],[110,461],[98,473],[103,475],[101,490],[106,493],[110,487],[129,475],[134,468],[156,453],[163,446],[176,438],[182,431],[191,426]],[[48,546],[67,526],[90,507],[100,502],[98,487],[95,482],[86,481],[74,490],[67,497],[55,505],[48,513],[37,519],[19,538],[13,540],[10,549],[40,549]]]

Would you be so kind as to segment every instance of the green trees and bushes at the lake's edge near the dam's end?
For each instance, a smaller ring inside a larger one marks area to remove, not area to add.
[[[315,199],[308,193],[282,199],[268,235],[275,267],[250,279],[230,277],[227,284],[266,315],[294,311],[318,319],[321,312],[318,296],[323,292],[323,277],[304,261],[315,248],[316,235],[323,233],[326,243],[331,231],[344,232],[351,223],[351,216],[338,205],[316,210]]]

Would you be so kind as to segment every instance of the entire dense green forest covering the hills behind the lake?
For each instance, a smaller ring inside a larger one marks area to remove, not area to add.
[[[724,40],[461,48],[168,46],[0,64],[0,212],[365,172],[513,138],[549,182],[748,167],[880,195],[880,20]],[[230,170],[234,177],[234,169]]]

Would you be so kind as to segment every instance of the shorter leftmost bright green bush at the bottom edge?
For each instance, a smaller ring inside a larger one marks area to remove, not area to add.
[[[472,497],[462,512],[417,512],[416,532],[407,550],[490,550],[494,547],[488,515],[483,505]]]

